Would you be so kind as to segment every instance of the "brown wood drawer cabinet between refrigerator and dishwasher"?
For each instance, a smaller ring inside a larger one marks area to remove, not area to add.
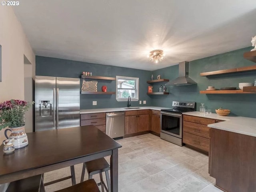
[[[106,133],[106,113],[90,113],[80,115],[80,126],[94,125]]]

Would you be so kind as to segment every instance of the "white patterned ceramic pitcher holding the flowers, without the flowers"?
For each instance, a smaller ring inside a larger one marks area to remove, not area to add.
[[[7,136],[7,131],[11,131],[10,136]],[[25,125],[20,127],[10,127],[4,131],[7,139],[14,139],[14,148],[20,149],[28,146],[28,136],[25,133]]]

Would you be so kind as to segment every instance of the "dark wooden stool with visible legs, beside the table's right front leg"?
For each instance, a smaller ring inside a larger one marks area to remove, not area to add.
[[[100,183],[98,185],[101,185],[101,190],[104,192],[104,188],[106,189],[107,192],[110,192],[110,178],[108,174],[108,170],[110,170],[110,166],[108,162],[105,160],[105,158],[99,158],[96,160],[84,162],[83,168],[82,168],[82,175],[81,175],[81,182],[84,181],[84,172],[85,168],[88,172],[89,179],[92,179],[92,175],[94,174],[100,174]],[[102,178],[102,172],[105,172],[106,174],[106,180],[107,180],[107,185],[104,183],[103,178]]]

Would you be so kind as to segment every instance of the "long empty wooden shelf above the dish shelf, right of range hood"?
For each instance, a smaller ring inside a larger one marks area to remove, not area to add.
[[[212,75],[241,73],[241,72],[249,72],[249,71],[256,71],[256,65],[233,68],[233,69],[224,69],[224,70],[218,70],[218,71],[203,72],[203,73],[200,73],[200,76],[212,76]]]

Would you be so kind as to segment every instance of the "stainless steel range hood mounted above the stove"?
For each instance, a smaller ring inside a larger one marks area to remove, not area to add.
[[[174,86],[181,86],[181,85],[196,85],[197,83],[194,82],[191,78],[188,77],[188,70],[189,70],[189,63],[187,61],[179,63],[179,77],[171,80],[170,82],[166,83],[165,85],[174,85]]]

